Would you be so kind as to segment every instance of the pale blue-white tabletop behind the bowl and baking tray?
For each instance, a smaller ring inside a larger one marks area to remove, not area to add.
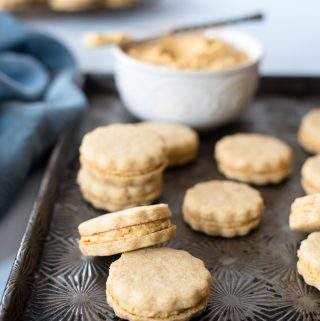
[[[109,49],[88,49],[81,43],[86,31],[150,31],[156,26],[212,21],[262,11],[262,23],[239,26],[265,44],[263,74],[320,73],[320,2],[314,0],[148,0],[132,11],[26,17],[30,26],[59,38],[75,53],[81,69],[110,72]]]

